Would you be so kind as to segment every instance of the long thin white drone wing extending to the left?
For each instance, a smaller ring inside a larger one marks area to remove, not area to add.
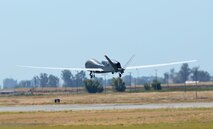
[[[30,68],[30,69],[49,69],[49,70],[70,70],[70,71],[103,71],[100,68],[61,68],[61,67],[39,67],[39,66],[26,66],[26,65],[16,65],[17,67]]]

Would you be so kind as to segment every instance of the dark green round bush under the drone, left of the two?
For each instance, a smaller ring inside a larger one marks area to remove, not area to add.
[[[98,80],[86,79],[84,80],[84,86],[89,93],[101,93],[104,90]]]

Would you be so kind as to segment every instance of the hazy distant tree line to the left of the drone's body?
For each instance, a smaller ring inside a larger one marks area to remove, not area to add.
[[[61,79],[63,80],[63,87],[82,86],[86,79],[86,73],[81,71],[73,75],[69,70],[61,72]],[[37,87],[59,87],[60,79],[55,75],[48,75],[47,73],[40,73],[34,76],[31,80],[21,80],[18,82],[13,78],[6,78],[3,80],[4,88],[37,88]]]

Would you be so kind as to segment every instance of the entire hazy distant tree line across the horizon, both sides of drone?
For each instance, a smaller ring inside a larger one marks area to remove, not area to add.
[[[60,84],[60,78],[55,75],[48,75],[47,73],[40,73],[34,76],[31,80],[21,80],[18,82],[13,78],[6,78],[3,80],[4,88],[32,88],[32,87],[77,87],[84,86],[86,80],[86,73],[84,71],[77,72],[75,75],[69,70],[63,70],[61,72],[61,79],[63,83]],[[126,75],[122,78],[126,85],[135,83],[137,85],[143,85],[155,80],[155,76],[150,77],[132,77]],[[158,81],[161,83],[185,83],[187,80],[206,82],[210,81],[211,76],[207,71],[200,70],[199,67],[189,68],[188,64],[183,64],[179,71],[171,69],[164,74],[164,77],[158,77]],[[115,80],[103,78],[96,78],[101,84],[112,85]]]

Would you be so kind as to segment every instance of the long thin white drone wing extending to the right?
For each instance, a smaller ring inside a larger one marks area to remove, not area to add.
[[[193,62],[197,62],[197,60],[179,61],[179,62],[154,64],[154,65],[130,66],[130,67],[126,67],[126,69],[154,68],[154,67],[162,67],[162,66],[177,65],[177,64],[184,64],[184,63],[193,63]]]

